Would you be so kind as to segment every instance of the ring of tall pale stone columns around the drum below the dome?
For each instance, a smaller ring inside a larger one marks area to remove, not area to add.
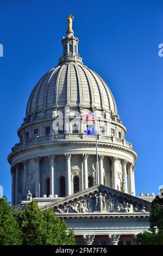
[[[49,159],[49,178],[50,178],[50,194],[54,197],[55,194],[55,169],[56,169],[56,157],[55,155],[48,156]],[[99,155],[98,157],[98,183],[104,185],[104,168],[103,168],[103,159],[105,155]],[[107,157],[107,156],[106,156]],[[71,172],[71,154],[65,154],[66,161],[66,196],[72,194],[72,172]],[[87,160],[89,159],[89,154],[83,154],[83,189],[89,187],[88,184],[88,164]],[[40,160],[41,157],[34,158],[34,169],[35,169],[35,197],[41,197],[40,195]],[[111,162],[111,172],[112,172],[112,188],[117,190],[117,164],[119,164],[120,159],[117,157],[109,157]],[[27,187],[28,187],[28,160],[24,160],[21,163],[16,163],[11,167],[12,174],[12,204],[20,203],[21,199],[26,199]],[[121,159],[122,164],[122,192],[132,194],[135,196],[135,179],[134,179],[134,165],[131,162],[128,162],[125,159]],[[22,173],[22,188],[20,187],[20,173],[23,166]],[[21,194],[21,195],[20,195]]]

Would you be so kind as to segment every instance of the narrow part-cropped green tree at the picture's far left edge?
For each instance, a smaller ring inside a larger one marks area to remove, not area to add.
[[[22,234],[16,220],[16,212],[7,202],[0,198],[0,245],[21,245]]]

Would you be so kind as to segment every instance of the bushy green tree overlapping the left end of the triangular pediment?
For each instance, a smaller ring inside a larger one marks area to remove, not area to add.
[[[74,245],[73,230],[52,209],[40,211],[37,202],[26,205],[18,216],[23,245]],[[68,230],[68,231],[67,231]]]

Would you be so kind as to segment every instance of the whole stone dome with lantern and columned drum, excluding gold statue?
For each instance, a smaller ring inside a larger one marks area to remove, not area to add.
[[[67,197],[99,184],[135,195],[137,154],[125,139],[114,97],[105,81],[83,65],[72,29],[66,34],[59,64],[34,87],[17,131],[20,141],[8,156],[13,205],[26,199],[27,191],[53,200],[56,194]],[[54,129],[59,112],[64,125]],[[96,119],[98,136],[85,133],[95,125],[83,122],[90,112],[103,117]]]

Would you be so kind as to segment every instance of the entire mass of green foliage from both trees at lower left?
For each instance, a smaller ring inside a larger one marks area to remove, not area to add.
[[[40,211],[36,201],[15,211],[0,198],[0,245],[75,245],[74,232],[52,209]]]

